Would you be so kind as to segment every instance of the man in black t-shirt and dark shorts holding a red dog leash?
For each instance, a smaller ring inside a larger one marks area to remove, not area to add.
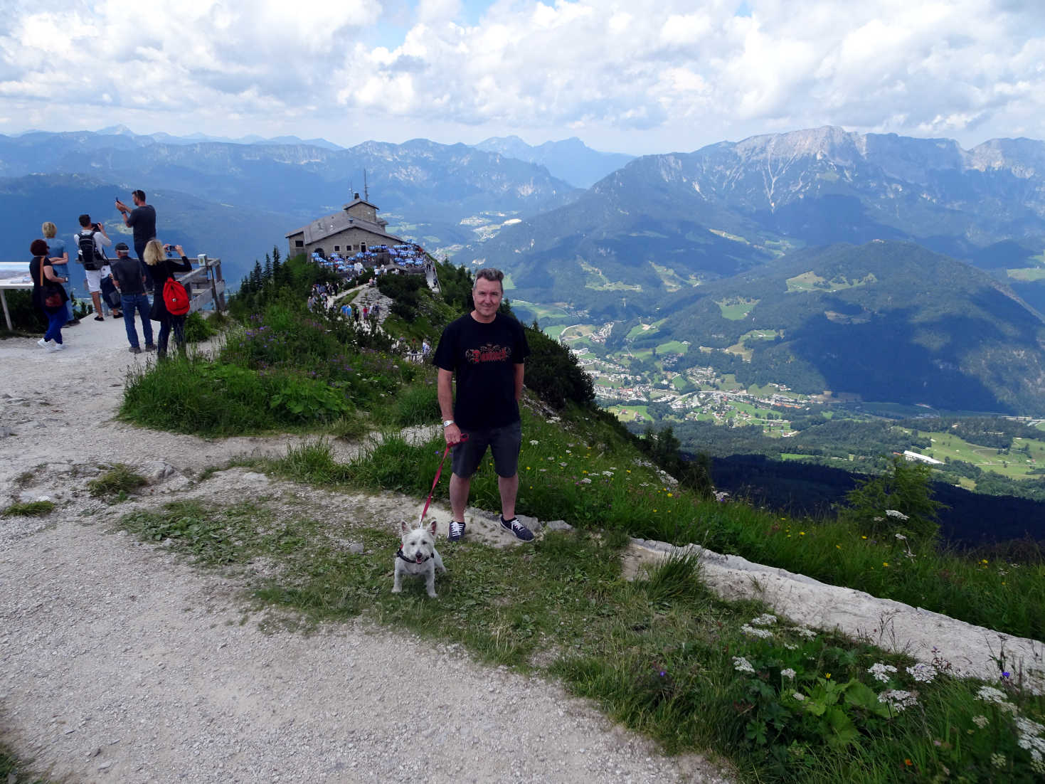
[[[454,446],[450,475],[450,521],[447,538],[464,535],[464,509],[468,503],[471,476],[490,447],[501,491],[501,527],[522,541],[533,532],[515,518],[518,493],[519,446],[522,422],[519,396],[522,394],[524,363],[530,353],[522,325],[497,313],[505,290],[501,270],[484,268],[475,273],[471,290],[472,312],[448,324],[436,347],[439,368],[439,408],[443,414],[446,444]],[[450,382],[457,375],[457,400]],[[461,440],[468,434],[466,441]]]

